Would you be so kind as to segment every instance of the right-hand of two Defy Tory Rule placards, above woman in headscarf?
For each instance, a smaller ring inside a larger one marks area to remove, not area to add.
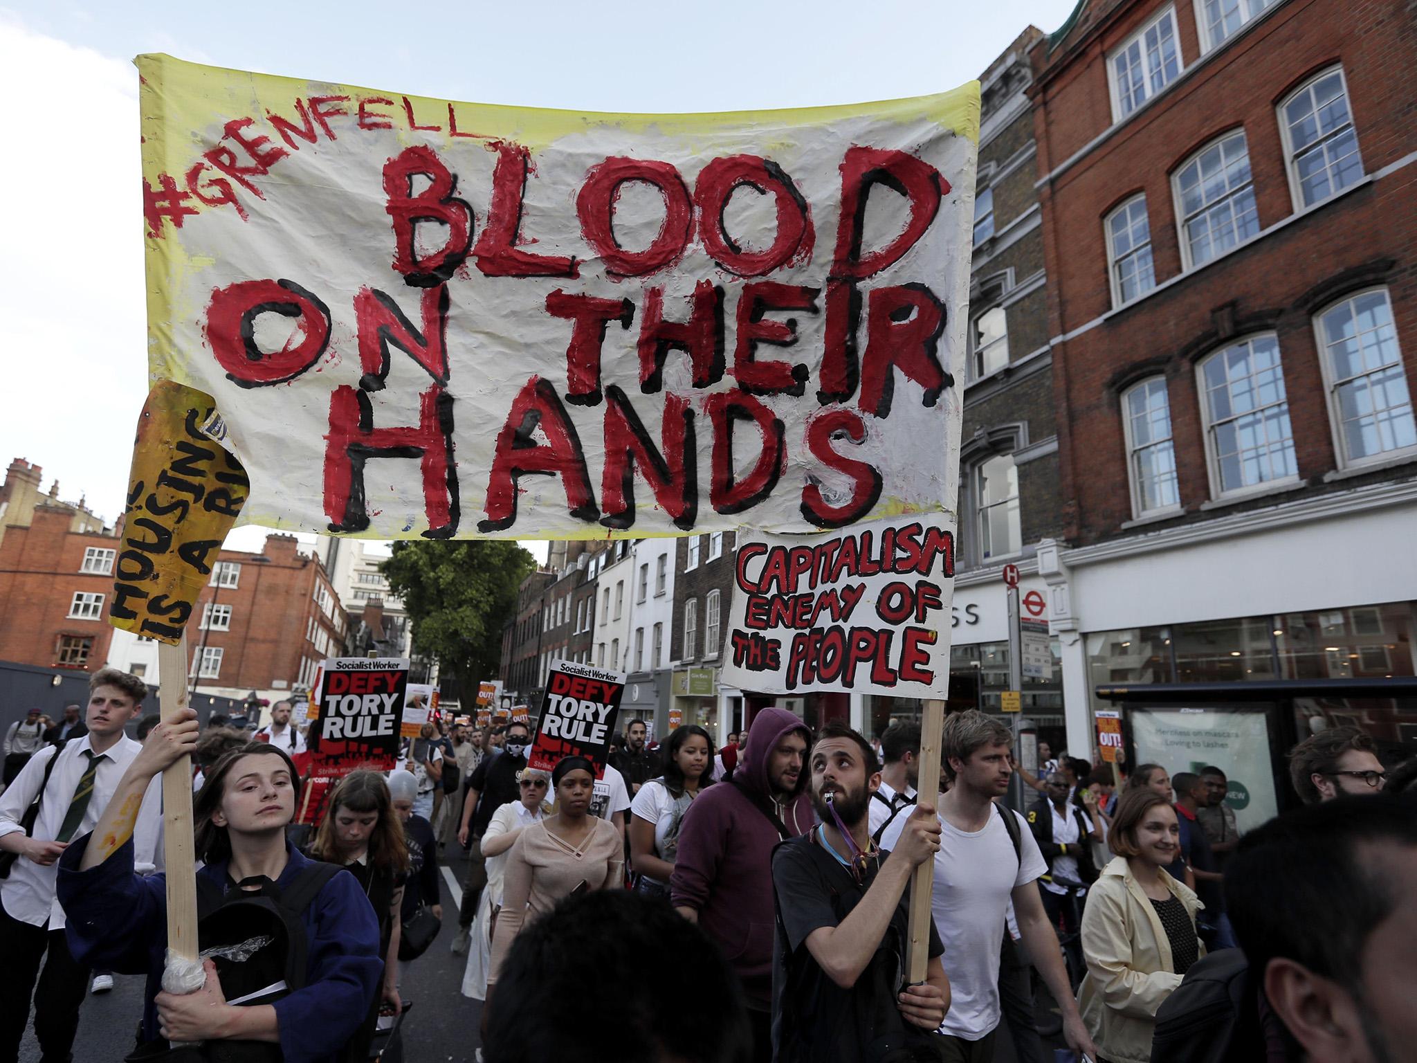
[[[585,757],[605,774],[625,673],[553,660],[527,767],[550,771],[563,757]]]

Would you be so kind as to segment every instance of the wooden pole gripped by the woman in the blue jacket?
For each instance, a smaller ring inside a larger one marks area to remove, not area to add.
[[[187,707],[187,635],[176,646],[157,646],[163,723]],[[197,862],[191,818],[191,757],[163,772],[163,859],[167,873],[167,948],[197,960]]]

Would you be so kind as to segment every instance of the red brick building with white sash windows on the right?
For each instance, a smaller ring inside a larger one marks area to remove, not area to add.
[[[1074,753],[1100,682],[1414,673],[1414,54],[1403,0],[1083,0],[1033,50]],[[1417,737],[1370,700],[1306,712]]]

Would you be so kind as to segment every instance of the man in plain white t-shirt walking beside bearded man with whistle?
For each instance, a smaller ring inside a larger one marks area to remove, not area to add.
[[[999,1025],[999,951],[1009,900],[1023,945],[1063,1009],[1063,1035],[1074,1052],[1095,1059],[1097,1047],[1083,1026],[1057,934],[1049,924],[1034,882],[1047,870],[1023,818],[995,804],[1009,791],[1013,734],[978,710],[945,720],[941,758],[952,785],[939,797],[939,852],[931,913],[945,944],[941,958],[949,975],[951,1002],[939,1032],[948,1063],[990,1063]],[[1012,822],[1007,822],[1009,816]],[[890,849],[908,814],[897,816],[881,836]],[[1015,840],[1016,839],[1016,840]]]

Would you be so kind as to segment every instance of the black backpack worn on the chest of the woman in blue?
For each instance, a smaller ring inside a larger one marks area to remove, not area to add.
[[[305,910],[343,867],[310,863],[281,892],[265,882],[259,890],[232,887],[197,876],[197,944],[217,965],[227,1003],[273,1003],[306,984],[309,941]],[[149,1042],[128,1057],[130,1063],[279,1063],[279,1045],[255,1040],[208,1040],[169,1047]]]

